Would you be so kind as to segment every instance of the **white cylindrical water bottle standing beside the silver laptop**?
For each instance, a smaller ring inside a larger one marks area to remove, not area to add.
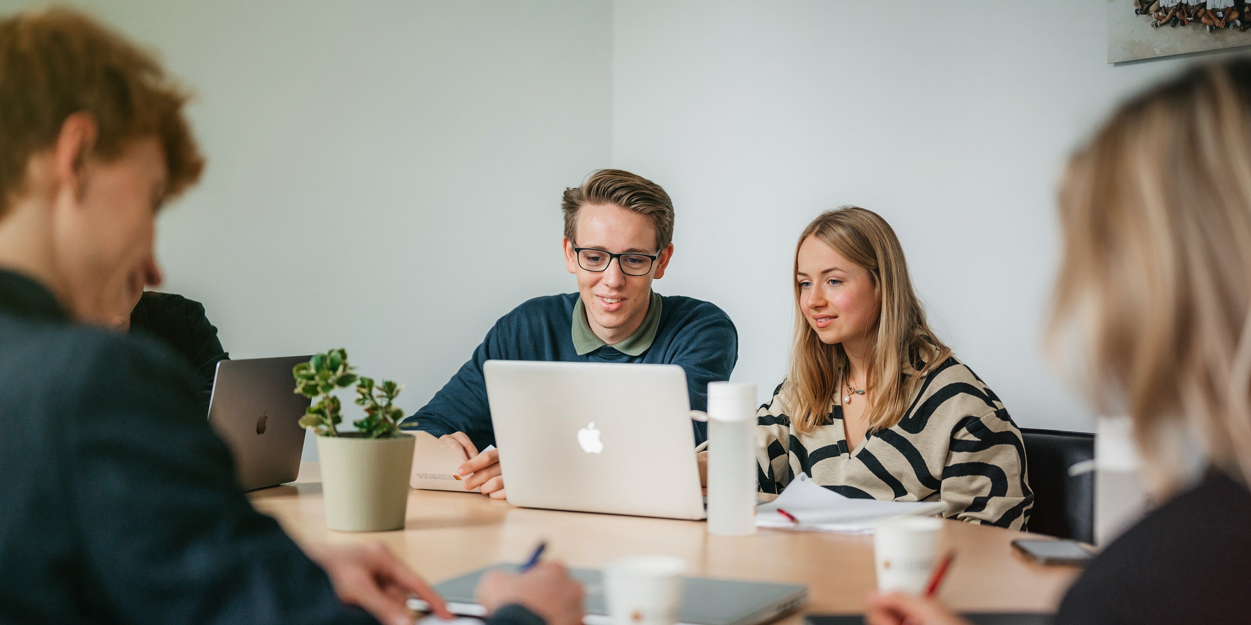
[[[756,385],[708,384],[708,532],[756,534]]]

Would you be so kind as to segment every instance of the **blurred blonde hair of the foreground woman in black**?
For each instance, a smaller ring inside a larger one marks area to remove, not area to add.
[[[1122,105],[1070,161],[1060,216],[1052,345],[1076,330],[1086,391],[1130,414],[1148,488],[1181,484],[1178,429],[1251,484],[1251,62]]]

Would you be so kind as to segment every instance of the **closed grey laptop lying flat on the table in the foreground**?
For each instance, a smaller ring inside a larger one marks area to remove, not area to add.
[[[503,449],[503,448],[500,448]],[[512,488],[509,485],[508,488]],[[483,616],[485,610],[474,599],[478,580],[494,569],[515,571],[517,565],[480,569],[437,584],[434,590],[448,602],[448,609],[464,616]],[[598,570],[569,569],[569,575],[585,589],[583,618],[585,625],[612,625],[604,604],[604,590]],[[808,588],[794,584],[687,578],[682,585],[679,625],[758,625],[784,616],[808,600]],[[425,610],[424,601],[410,601],[409,608]]]

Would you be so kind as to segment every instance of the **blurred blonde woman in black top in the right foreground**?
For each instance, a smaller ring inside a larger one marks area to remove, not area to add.
[[[1053,340],[1073,332],[1095,406],[1130,414],[1158,505],[1086,568],[1055,622],[1246,622],[1251,62],[1121,106],[1071,160],[1060,216]],[[1206,470],[1188,469],[1195,455]],[[921,599],[869,602],[874,625],[963,622]]]

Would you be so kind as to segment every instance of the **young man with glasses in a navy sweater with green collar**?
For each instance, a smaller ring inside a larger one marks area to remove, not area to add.
[[[578,292],[535,298],[504,315],[408,428],[440,436],[464,454],[465,489],[504,499],[504,480],[487,405],[488,360],[648,362],[681,365],[691,408],[704,410],[708,382],[728,380],[738,360],[738,332],[719,308],[661,296],[652,281],[673,258],[673,201],[661,185],[617,169],[594,171],[565,189],[565,269]],[[610,401],[610,398],[605,398]],[[692,421],[696,442],[707,438]]]

